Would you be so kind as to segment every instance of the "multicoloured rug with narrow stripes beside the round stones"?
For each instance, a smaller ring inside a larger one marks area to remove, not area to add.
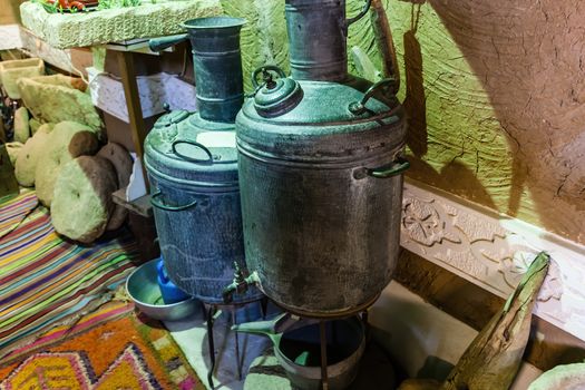
[[[35,192],[0,205],[0,359],[111,299],[137,256],[134,238],[80,246],[52,228]]]

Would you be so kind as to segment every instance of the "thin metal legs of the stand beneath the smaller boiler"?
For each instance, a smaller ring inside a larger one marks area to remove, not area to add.
[[[236,304],[216,304],[216,303],[211,303],[208,304],[208,309],[206,306],[206,303],[202,302],[203,304],[203,312],[205,313],[206,318],[205,318],[205,321],[207,323],[207,344],[209,347],[209,363],[211,363],[211,367],[209,367],[209,371],[207,372],[207,383],[209,383],[209,387],[212,389],[215,388],[214,383],[213,383],[213,373],[215,372],[215,341],[214,341],[214,333],[213,333],[213,326],[214,326],[214,323],[215,323],[215,319],[217,318],[217,315],[221,313],[221,309],[222,308],[227,308],[230,310],[230,313],[231,313],[231,319],[232,319],[232,325],[235,325],[236,324],[236,311],[237,309],[240,308],[243,308],[247,304],[251,304],[251,303],[260,303],[260,310],[261,310],[261,314],[262,314],[262,319],[265,319],[266,318],[266,309],[267,309],[267,304],[269,304],[269,299],[266,296],[263,296],[261,298],[260,300],[257,301],[251,301],[251,302],[245,302],[245,303],[236,303]],[[238,335],[237,335],[237,332],[233,332],[234,333],[234,350],[235,350],[235,359],[236,359],[236,367],[237,367],[237,378],[238,380],[242,380],[242,361],[241,361],[241,358],[240,358],[240,339],[238,339]]]

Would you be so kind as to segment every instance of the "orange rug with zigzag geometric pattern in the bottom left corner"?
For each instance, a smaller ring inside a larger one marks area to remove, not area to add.
[[[131,309],[110,302],[14,351],[0,389],[205,389],[170,333]]]

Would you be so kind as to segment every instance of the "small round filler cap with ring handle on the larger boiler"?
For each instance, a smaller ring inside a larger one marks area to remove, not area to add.
[[[254,107],[260,116],[272,118],[283,115],[301,103],[303,90],[292,78],[280,78],[260,88],[254,96]]]

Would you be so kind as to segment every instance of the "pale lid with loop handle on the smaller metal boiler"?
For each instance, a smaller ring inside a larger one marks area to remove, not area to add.
[[[145,140],[149,174],[194,186],[237,185],[234,124],[208,121],[198,113],[162,116]]]

